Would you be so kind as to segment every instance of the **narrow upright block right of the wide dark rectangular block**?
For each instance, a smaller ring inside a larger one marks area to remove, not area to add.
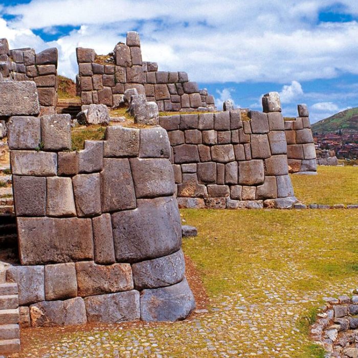
[[[98,264],[115,263],[110,214],[103,214],[92,219],[95,262]]]

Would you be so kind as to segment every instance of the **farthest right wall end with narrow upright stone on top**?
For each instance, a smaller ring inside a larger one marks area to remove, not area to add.
[[[298,105],[298,117],[285,121],[290,172],[317,171],[316,148],[307,106]]]

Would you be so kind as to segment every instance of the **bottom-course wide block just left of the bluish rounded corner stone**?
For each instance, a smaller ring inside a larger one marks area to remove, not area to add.
[[[84,299],[88,323],[119,323],[140,318],[139,292],[131,290]]]

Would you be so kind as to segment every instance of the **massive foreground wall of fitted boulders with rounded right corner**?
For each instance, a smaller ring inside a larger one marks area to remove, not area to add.
[[[37,95],[33,82],[7,83]],[[75,152],[69,115],[13,115],[8,144],[21,264],[7,281],[18,284],[23,326],[190,314],[163,128],[108,126]]]

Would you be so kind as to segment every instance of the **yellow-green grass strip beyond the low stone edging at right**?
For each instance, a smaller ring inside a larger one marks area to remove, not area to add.
[[[358,204],[358,167],[319,166],[318,175],[291,175],[304,204]]]

